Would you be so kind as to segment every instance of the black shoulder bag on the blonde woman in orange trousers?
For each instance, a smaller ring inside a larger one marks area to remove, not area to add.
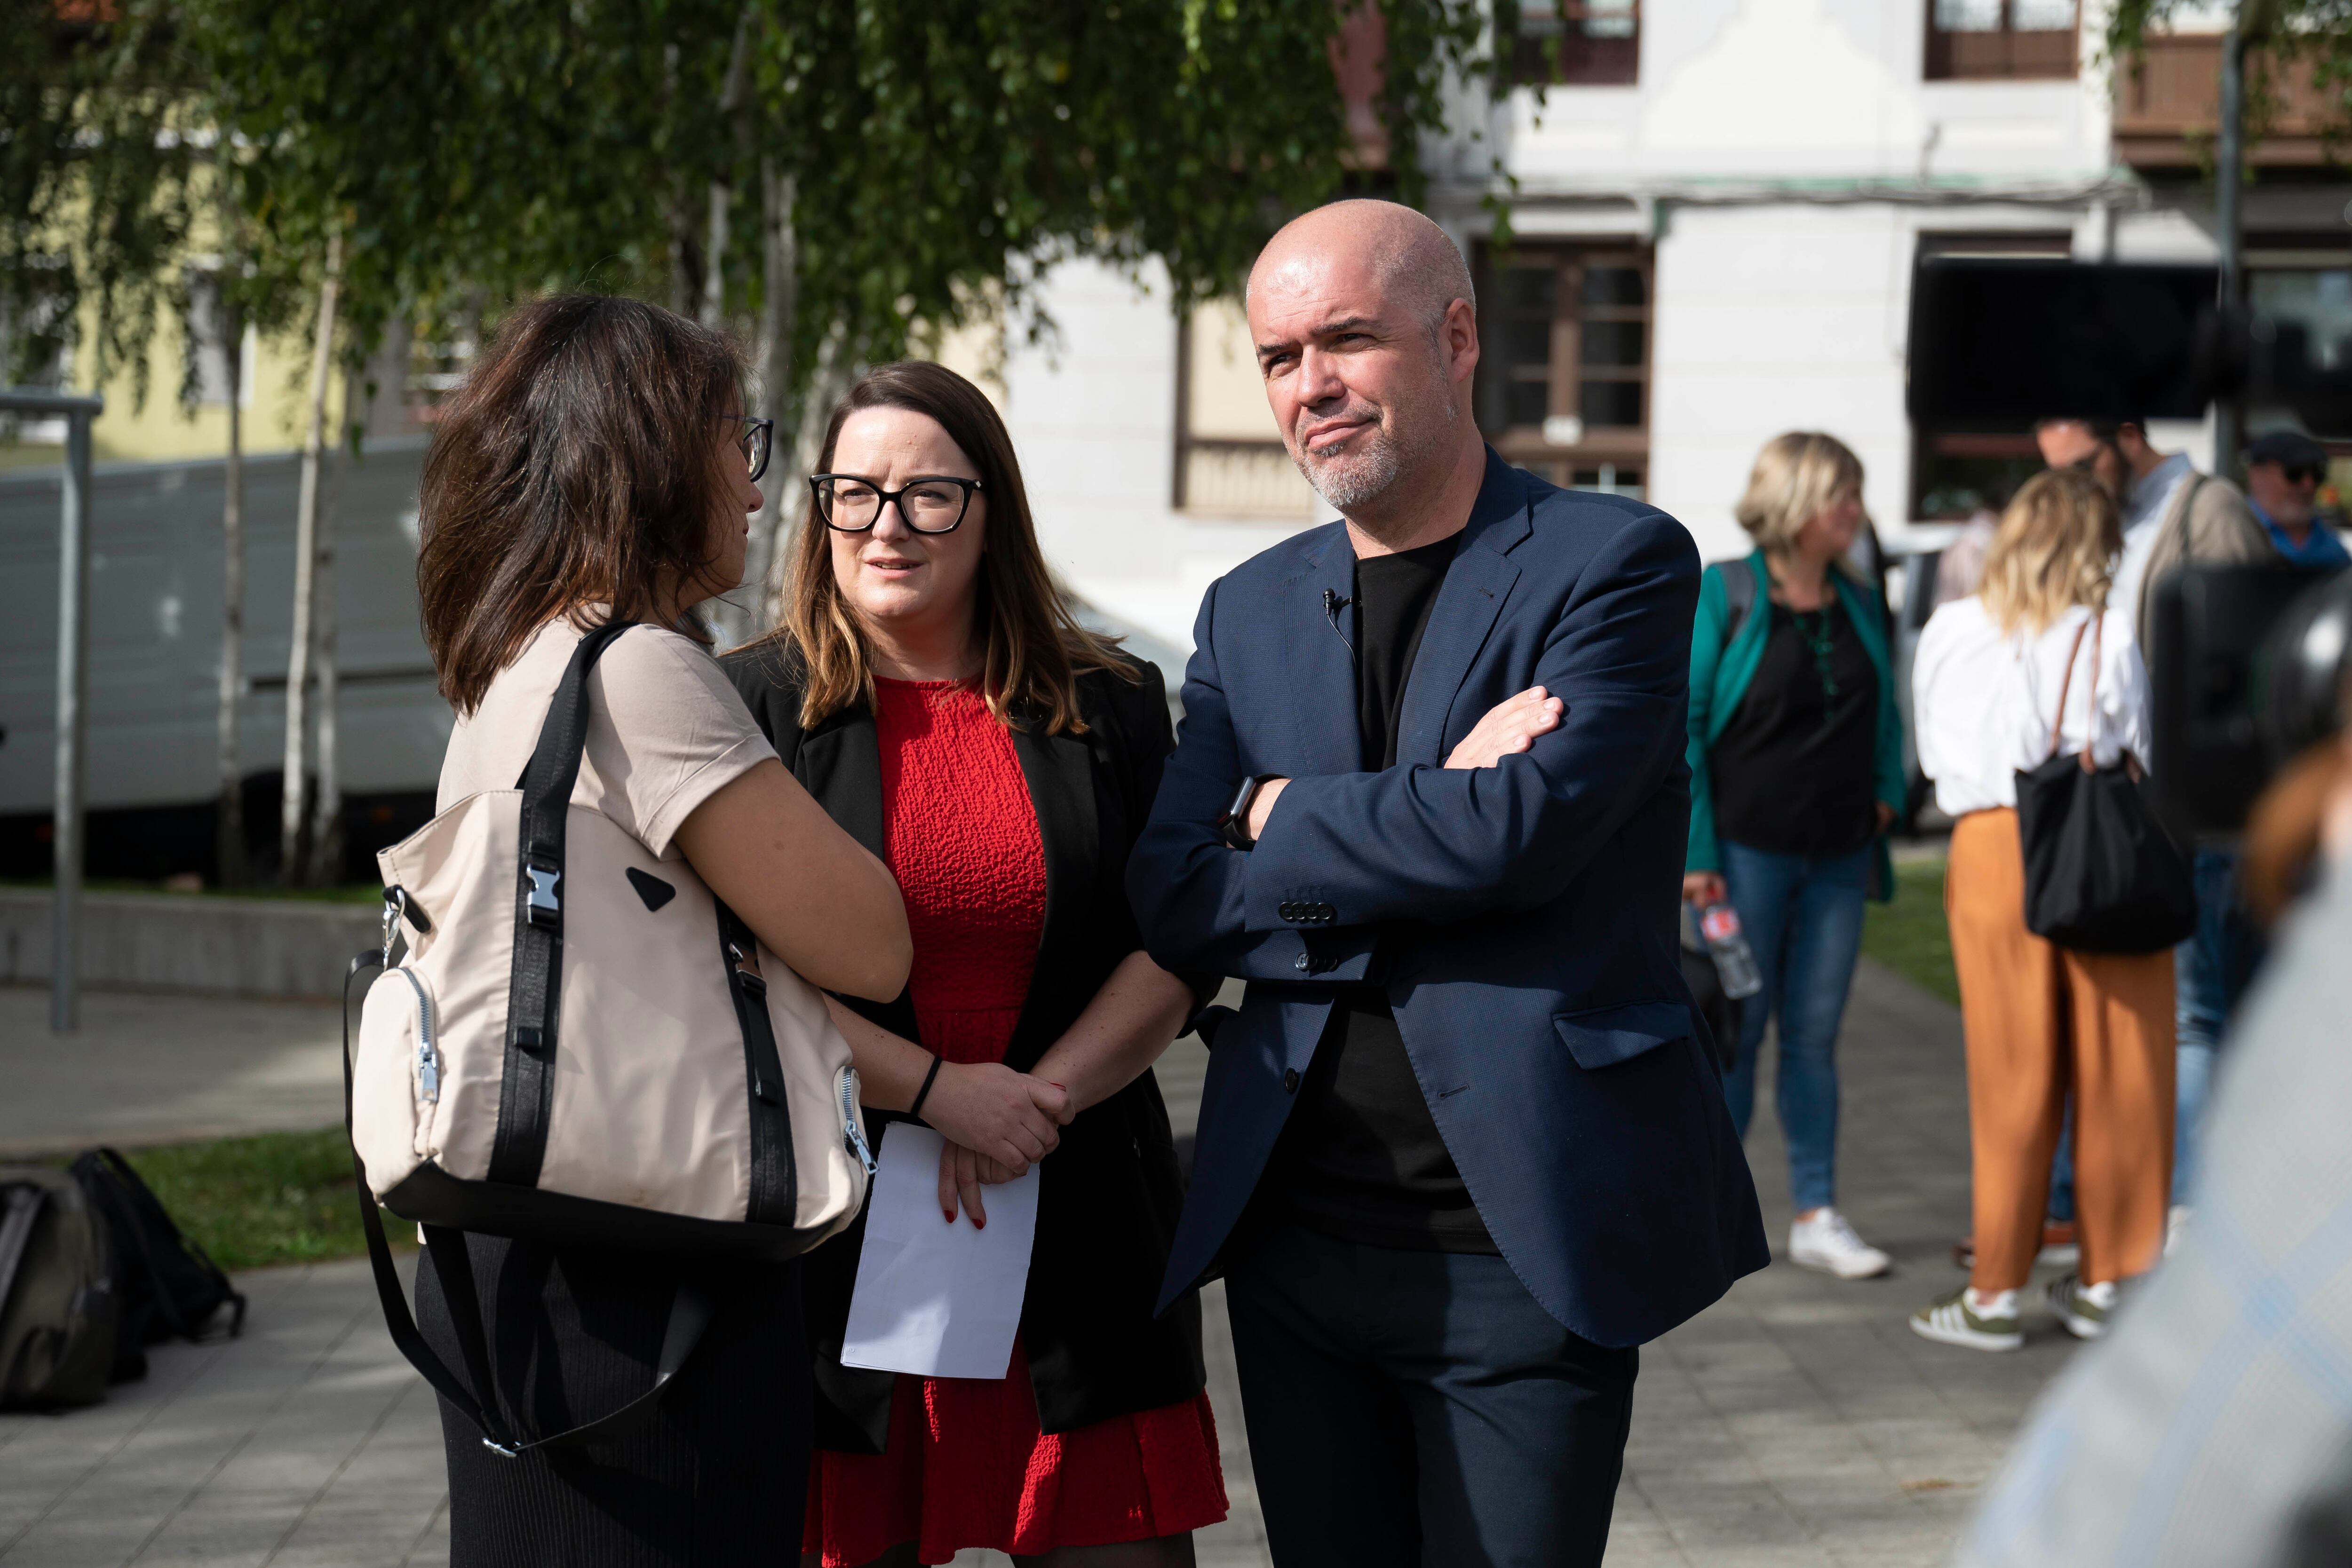
[[[2082,630],[2100,623],[2093,611]],[[2018,842],[2025,849],[2025,929],[2077,952],[2161,952],[2197,929],[2197,886],[2180,851],[2140,799],[2126,755],[2093,766],[2091,745],[2058,755],[2065,693],[2082,630],[2067,651],[2051,722],[2051,755],[2018,769]],[[2091,639],[2091,715],[2098,715],[2098,639]]]

